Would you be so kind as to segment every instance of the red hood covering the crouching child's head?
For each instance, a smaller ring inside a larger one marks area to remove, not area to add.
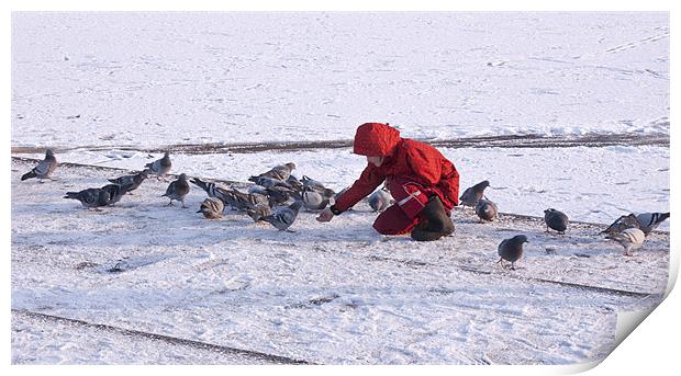
[[[381,123],[365,123],[355,134],[354,152],[367,157],[391,156],[400,144],[400,130]]]

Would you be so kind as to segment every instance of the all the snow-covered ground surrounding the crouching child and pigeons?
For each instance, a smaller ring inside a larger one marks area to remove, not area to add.
[[[191,208],[165,207],[155,180],[100,213],[63,198],[160,157],[135,149],[343,140],[369,121],[432,140],[669,135],[666,13],[12,21],[13,156],[54,147],[60,162],[104,167],[62,166],[41,184],[19,181],[33,163],[12,159],[13,363],[269,363],[224,347],[334,364],[574,364],[607,355],[617,312],[654,307],[667,286],[669,221],[634,258],[598,235],[622,214],[669,210],[663,145],[442,148],[461,189],[489,180],[501,212],[582,221],[562,237],[537,218],[455,210],[454,237],[414,243],[378,236],[364,204],[330,224],[301,213],[297,232],[279,232],[202,218],[193,185]],[[174,173],[244,182],[293,161],[335,190],[365,163],[347,148],[170,151]],[[515,233],[531,243],[518,270],[502,270],[496,244]]]

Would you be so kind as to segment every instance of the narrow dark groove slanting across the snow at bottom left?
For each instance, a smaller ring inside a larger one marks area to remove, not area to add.
[[[201,342],[201,341],[181,339],[177,337],[149,333],[149,332],[139,331],[139,330],[123,329],[123,328],[108,326],[103,323],[91,323],[91,322],[87,322],[83,320],[69,319],[66,317],[47,315],[47,314],[38,314],[38,312],[33,312],[33,311],[23,310],[23,309],[12,308],[12,315],[23,315],[30,318],[44,319],[48,321],[55,321],[55,322],[67,323],[67,324],[75,324],[79,327],[98,329],[98,330],[103,330],[108,332],[115,332],[118,334],[123,334],[123,335],[144,337],[147,339],[164,341],[164,342],[168,342],[168,343],[176,344],[176,345],[191,346],[194,349],[217,352],[217,353],[222,353],[226,355],[247,356],[254,360],[266,361],[266,362],[270,362],[273,364],[314,364],[308,361],[301,361],[301,360],[295,360],[292,357],[280,356],[280,355],[272,355],[268,353],[261,353],[258,351],[230,347],[230,346],[217,345],[217,344],[212,344],[212,343],[206,343],[206,342]]]

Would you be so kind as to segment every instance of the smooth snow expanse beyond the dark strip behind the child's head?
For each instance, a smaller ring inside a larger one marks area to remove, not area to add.
[[[12,21],[13,146],[669,133],[667,13]]]

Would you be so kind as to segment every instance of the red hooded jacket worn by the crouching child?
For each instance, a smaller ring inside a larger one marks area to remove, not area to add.
[[[459,204],[459,173],[447,158],[425,143],[402,138],[400,130],[387,124],[366,123],[357,128],[354,152],[383,157],[383,163],[367,164],[353,186],[338,197],[334,205],[337,210],[347,210],[393,175],[433,187],[448,210]]]

